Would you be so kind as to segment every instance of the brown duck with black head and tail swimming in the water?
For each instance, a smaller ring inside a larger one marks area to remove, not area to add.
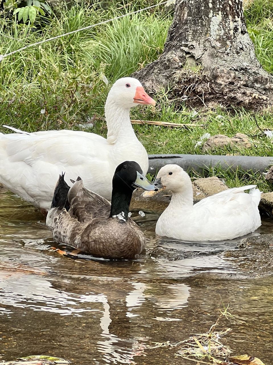
[[[134,161],[125,161],[116,168],[112,204],[84,188],[80,178],[70,188],[64,174],[60,175],[47,215],[54,240],[95,257],[135,258],[146,243],[141,229],[128,219],[132,192],[137,187],[158,190]]]

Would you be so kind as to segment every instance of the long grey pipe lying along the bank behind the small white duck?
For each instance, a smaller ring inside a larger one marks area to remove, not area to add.
[[[273,165],[273,157],[210,156],[210,155],[149,155],[148,173],[154,175],[167,164],[176,164],[185,171],[195,170],[208,176],[209,168],[242,172],[264,172]]]

